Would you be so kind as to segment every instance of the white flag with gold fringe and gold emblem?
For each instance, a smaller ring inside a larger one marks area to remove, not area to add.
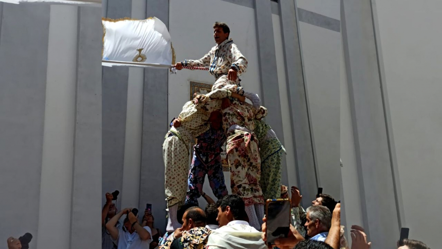
[[[170,68],[170,65],[175,63],[169,32],[160,19],[103,18],[102,23],[104,66],[150,64]],[[104,62],[105,60],[124,62],[124,64],[108,63]]]

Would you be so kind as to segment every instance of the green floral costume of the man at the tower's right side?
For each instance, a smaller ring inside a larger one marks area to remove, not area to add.
[[[261,181],[264,199],[277,199],[281,195],[282,153],[285,149],[270,125],[255,121],[255,134],[261,156]]]

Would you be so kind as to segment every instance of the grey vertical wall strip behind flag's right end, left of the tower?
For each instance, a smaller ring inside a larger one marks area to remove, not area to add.
[[[169,1],[147,0],[147,17],[169,26]],[[151,203],[155,225],[166,230],[164,162],[162,145],[168,131],[168,70],[144,70],[143,139],[141,154],[140,208]],[[152,181],[155,179],[155,181]]]

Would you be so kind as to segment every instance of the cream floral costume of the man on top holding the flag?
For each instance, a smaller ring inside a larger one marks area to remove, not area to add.
[[[217,44],[199,60],[186,59],[181,63],[183,66],[209,67],[210,74],[216,78],[212,90],[221,88],[220,85],[239,85],[239,78],[237,77],[236,81],[228,80],[227,73],[232,68],[240,76],[247,69],[247,59],[232,39],[226,39],[221,44]]]

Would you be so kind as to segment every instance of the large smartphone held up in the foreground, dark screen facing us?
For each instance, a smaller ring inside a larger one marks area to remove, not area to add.
[[[267,200],[265,216],[267,245],[274,245],[277,238],[287,238],[290,231],[289,199]]]

